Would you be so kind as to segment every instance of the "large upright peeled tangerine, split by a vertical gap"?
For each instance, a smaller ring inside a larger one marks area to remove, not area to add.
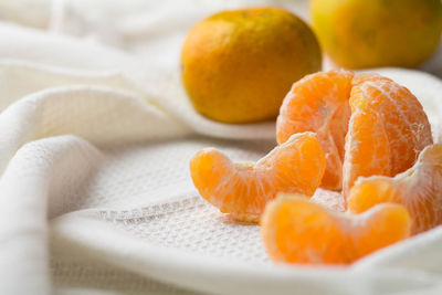
[[[301,131],[316,133],[326,154],[322,187],[344,187],[344,194],[360,176],[407,170],[432,144],[423,108],[406,87],[347,71],[312,74],[293,85],[277,117],[277,143]]]

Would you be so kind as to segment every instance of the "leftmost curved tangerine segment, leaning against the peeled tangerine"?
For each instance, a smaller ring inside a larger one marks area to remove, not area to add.
[[[200,194],[223,213],[257,222],[276,193],[313,196],[325,170],[325,155],[315,134],[291,136],[257,162],[233,164],[213,148],[190,160],[190,175]]]

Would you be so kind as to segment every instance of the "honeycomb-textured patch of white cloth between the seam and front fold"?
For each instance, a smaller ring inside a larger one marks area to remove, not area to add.
[[[102,212],[118,229],[148,243],[198,255],[269,264],[260,226],[231,221],[218,209],[190,197],[126,212]]]

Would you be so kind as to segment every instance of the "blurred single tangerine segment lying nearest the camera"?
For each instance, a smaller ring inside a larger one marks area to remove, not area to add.
[[[411,221],[400,204],[350,214],[299,194],[281,194],[269,202],[261,225],[267,253],[276,262],[348,264],[408,238]]]

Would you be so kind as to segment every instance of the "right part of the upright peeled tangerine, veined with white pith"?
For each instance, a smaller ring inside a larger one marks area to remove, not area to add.
[[[403,172],[432,144],[430,123],[409,89],[382,77],[360,81],[349,99],[352,115],[346,137],[344,196],[360,176]],[[368,125],[364,117],[376,120],[371,130],[364,129]],[[369,150],[378,155],[366,158]]]

